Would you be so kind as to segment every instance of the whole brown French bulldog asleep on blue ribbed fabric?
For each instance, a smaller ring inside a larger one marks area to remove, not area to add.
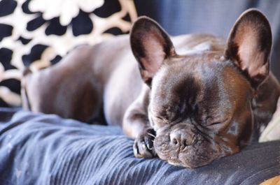
[[[25,71],[23,106],[90,121],[102,112],[134,138],[134,155],[197,168],[248,145],[276,109],[269,73],[272,33],[247,10],[228,41],[207,34],[170,38],[139,17],[130,37],[81,45],[58,64]]]

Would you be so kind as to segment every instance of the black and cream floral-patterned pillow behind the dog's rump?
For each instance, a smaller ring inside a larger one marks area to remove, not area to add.
[[[127,33],[132,0],[0,1],[0,106],[20,106],[25,66],[38,71],[83,43]]]

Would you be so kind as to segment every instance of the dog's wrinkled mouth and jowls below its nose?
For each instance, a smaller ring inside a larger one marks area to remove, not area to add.
[[[154,147],[155,152],[162,160],[186,168],[198,168],[221,158],[219,147],[214,142],[204,139],[201,135],[195,136],[195,142],[192,145],[182,147],[172,145],[169,133],[157,134]]]

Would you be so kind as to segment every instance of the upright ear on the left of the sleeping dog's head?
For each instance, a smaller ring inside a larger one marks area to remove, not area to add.
[[[151,86],[153,76],[163,61],[175,54],[172,41],[157,22],[139,17],[130,32],[130,45],[144,82]]]

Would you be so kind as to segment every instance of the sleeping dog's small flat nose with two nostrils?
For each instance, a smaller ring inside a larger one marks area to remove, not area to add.
[[[193,137],[190,134],[183,131],[172,131],[170,133],[170,141],[174,146],[187,147],[192,145]]]

